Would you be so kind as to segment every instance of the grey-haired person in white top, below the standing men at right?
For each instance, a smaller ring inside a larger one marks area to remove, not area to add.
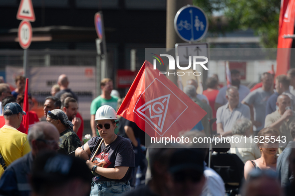
[[[251,129],[252,122],[247,118],[237,119],[232,128],[232,133],[234,135],[230,140],[230,153],[238,155],[244,164],[249,160],[256,160],[261,157],[256,143],[253,141],[251,142],[249,138]]]

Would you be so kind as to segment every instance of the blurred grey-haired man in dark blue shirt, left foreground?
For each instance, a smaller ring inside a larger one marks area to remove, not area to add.
[[[34,124],[28,133],[31,152],[14,161],[3,173],[0,180],[0,195],[29,196],[30,174],[33,160],[40,152],[55,151],[58,147],[59,135],[55,126],[47,122]]]

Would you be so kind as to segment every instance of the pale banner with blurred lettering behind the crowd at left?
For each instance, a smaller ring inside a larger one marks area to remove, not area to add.
[[[14,78],[22,75],[21,67],[6,66],[6,82],[15,87]],[[50,95],[51,87],[57,84],[61,74],[66,74],[69,80],[68,88],[78,96],[79,112],[84,120],[90,120],[90,104],[96,98],[95,66],[50,66],[29,68],[29,92],[39,105]]]

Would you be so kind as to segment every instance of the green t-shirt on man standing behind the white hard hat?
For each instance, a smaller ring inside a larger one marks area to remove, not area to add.
[[[101,107],[102,105],[109,105],[115,110],[117,110],[119,98],[115,96],[111,96],[111,97],[112,97],[111,99],[105,99],[105,98],[102,98],[101,96],[98,96],[97,98],[93,99],[90,106],[90,114],[95,115],[97,109]]]

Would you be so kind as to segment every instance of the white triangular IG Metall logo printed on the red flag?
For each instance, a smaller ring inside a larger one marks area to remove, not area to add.
[[[169,105],[170,94],[150,100],[136,109],[146,120],[152,123],[161,133]]]

